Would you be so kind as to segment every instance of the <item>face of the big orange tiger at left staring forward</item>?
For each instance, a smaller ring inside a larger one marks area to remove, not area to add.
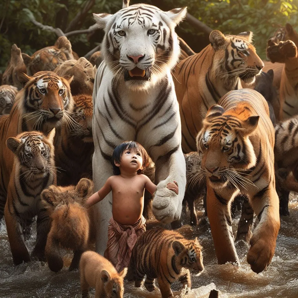
[[[67,112],[73,108],[69,87],[72,77],[59,77],[54,72],[38,72],[29,77],[20,72],[18,78],[25,84],[20,91],[23,114],[33,129],[44,130],[46,124],[49,130],[69,117]]]

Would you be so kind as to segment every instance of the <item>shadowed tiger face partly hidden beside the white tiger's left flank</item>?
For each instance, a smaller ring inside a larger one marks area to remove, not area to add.
[[[70,128],[69,134],[74,137],[79,137],[83,142],[93,142],[92,135],[92,115],[93,102],[91,95],[75,95],[74,110],[72,118],[77,122],[75,129]]]

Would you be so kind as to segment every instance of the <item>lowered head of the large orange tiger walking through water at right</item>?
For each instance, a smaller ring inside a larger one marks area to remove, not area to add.
[[[240,107],[243,110],[243,107]],[[250,112],[226,112],[220,105],[212,105],[197,136],[197,150],[202,155],[201,171],[214,189],[235,186],[240,173],[256,163],[249,135],[256,129],[259,116]],[[243,185],[249,183],[243,180]]]

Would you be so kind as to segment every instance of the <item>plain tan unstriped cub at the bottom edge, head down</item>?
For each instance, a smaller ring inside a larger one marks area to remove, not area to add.
[[[84,252],[80,260],[80,280],[82,298],[88,297],[89,287],[95,287],[95,298],[122,298],[124,268],[118,273],[105,257],[96,252]]]

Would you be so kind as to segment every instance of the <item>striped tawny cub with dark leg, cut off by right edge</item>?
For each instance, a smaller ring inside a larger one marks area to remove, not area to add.
[[[298,190],[298,117],[275,125],[275,176],[276,191],[280,198],[280,215],[289,215],[290,191]]]

